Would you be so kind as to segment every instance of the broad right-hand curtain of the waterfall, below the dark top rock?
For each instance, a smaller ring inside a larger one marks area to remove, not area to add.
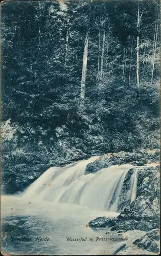
[[[99,170],[95,177],[86,183],[79,203],[95,209],[117,211],[119,194],[122,190],[125,175],[130,168],[130,164],[123,164]],[[112,202],[116,189],[118,195]]]

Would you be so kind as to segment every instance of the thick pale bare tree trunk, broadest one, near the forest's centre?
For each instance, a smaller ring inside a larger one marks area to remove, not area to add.
[[[81,102],[84,101],[84,97],[85,97],[85,80],[86,80],[87,59],[88,59],[88,41],[89,41],[89,31],[86,33],[86,38],[85,38],[85,42],[84,42],[82,78],[81,78],[81,93],[80,93]]]

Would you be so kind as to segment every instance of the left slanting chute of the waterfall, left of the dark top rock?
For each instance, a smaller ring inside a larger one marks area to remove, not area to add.
[[[25,191],[24,197],[38,197],[47,201],[55,201],[70,184],[84,175],[88,163],[94,162],[99,156],[88,160],[68,164],[62,168],[51,167],[44,172]]]

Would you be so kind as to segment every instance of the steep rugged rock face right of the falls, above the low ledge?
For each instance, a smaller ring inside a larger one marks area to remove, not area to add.
[[[123,217],[126,220],[134,219],[137,221],[143,218],[146,218],[147,221],[157,219],[160,195],[159,170],[159,166],[140,169],[136,200],[125,207],[119,218]]]

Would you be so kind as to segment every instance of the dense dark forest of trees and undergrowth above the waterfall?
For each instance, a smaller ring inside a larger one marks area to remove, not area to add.
[[[2,189],[159,148],[159,0],[4,1]]]

